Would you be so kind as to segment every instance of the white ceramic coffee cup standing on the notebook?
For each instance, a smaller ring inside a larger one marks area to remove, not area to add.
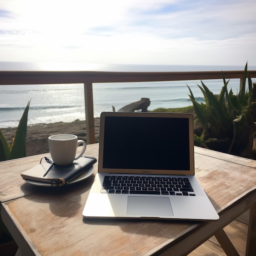
[[[76,156],[77,147],[83,144],[81,152]],[[48,137],[48,145],[52,161],[56,165],[69,165],[83,155],[86,149],[85,141],[77,139],[72,134],[57,134]]]

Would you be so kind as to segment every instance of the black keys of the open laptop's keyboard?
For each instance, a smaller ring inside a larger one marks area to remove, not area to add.
[[[187,177],[132,175],[106,175],[101,193],[195,196]]]

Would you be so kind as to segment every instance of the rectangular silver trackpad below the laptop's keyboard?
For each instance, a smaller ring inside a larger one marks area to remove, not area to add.
[[[128,196],[127,214],[141,217],[173,216],[173,210],[167,197]]]

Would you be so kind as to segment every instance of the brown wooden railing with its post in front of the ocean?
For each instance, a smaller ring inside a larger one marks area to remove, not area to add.
[[[240,79],[244,71],[224,71],[226,79]],[[256,70],[249,70],[256,78]],[[83,83],[85,94],[86,139],[95,142],[93,83],[183,81],[222,79],[222,72],[98,72],[98,71],[0,71],[0,85]]]

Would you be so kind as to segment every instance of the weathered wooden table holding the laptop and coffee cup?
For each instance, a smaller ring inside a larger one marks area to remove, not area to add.
[[[45,154],[49,155],[49,154]],[[98,144],[86,155],[98,157]],[[86,220],[94,175],[66,187],[40,187],[20,173],[44,155],[0,162],[1,215],[23,255],[186,255],[215,235],[238,255],[223,227],[250,210],[247,255],[256,251],[256,161],[195,147],[196,176],[220,215],[214,222]],[[97,172],[97,164],[94,165]]]

